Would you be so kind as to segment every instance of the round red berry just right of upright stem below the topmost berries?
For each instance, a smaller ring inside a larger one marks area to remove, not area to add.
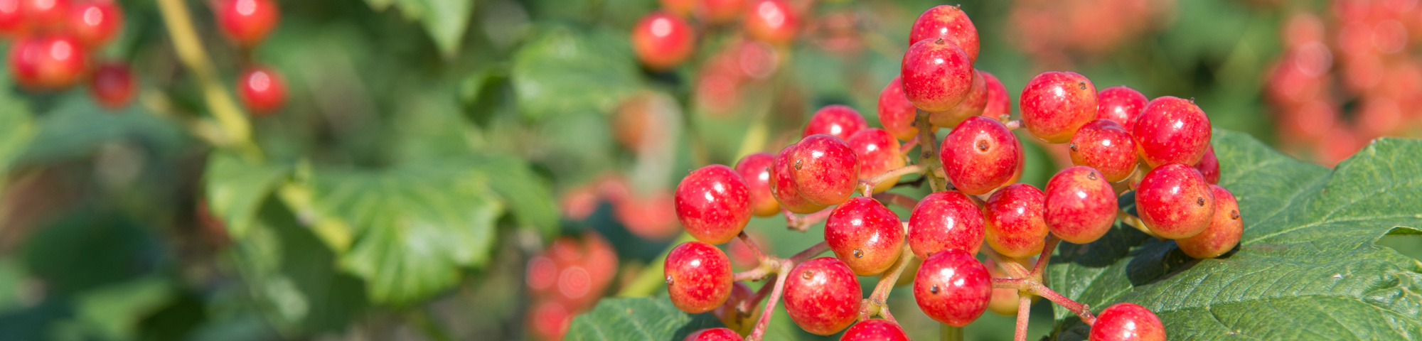
[[[939,158],[954,188],[983,195],[1012,179],[1021,162],[1021,149],[1017,135],[1003,122],[971,117],[943,138]]]

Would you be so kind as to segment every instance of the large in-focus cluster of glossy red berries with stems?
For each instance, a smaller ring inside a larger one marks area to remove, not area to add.
[[[813,334],[849,328],[842,340],[903,340],[884,301],[900,277],[910,278],[919,308],[947,325],[973,323],[993,305],[994,288],[1007,288],[1015,293],[1001,300],[1020,304],[1000,311],[1027,314],[1031,298],[1044,297],[1092,324],[1092,340],[1163,340],[1149,310],[1123,303],[1095,317],[1047,288],[1042,276],[1059,242],[1092,243],[1118,217],[1176,240],[1196,259],[1234,249],[1243,220],[1233,195],[1214,185],[1219,161],[1204,111],[1192,99],[1148,101],[1128,87],[1098,91],[1081,74],[1051,71],[1027,82],[1021,118],[1012,121],[1001,82],[974,68],[977,28],[960,7],[924,11],[909,43],[899,78],[880,94],[883,129],[869,128],[853,108],[829,105],[815,112],[799,142],[778,153],[748,155],[737,168],[708,165],[677,186],[677,219],[697,242],[667,257],[671,303],[687,313],[721,311],[732,327],[687,340],[761,340],[769,320],[764,311],[781,301]],[[934,134],[940,128],[948,129],[941,141]],[[1024,163],[1012,132],[1018,128],[1045,144],[1066,144],[1075,166],[1052,176],[1045,190],[1015,183]],[[921,151],[919,162],[906,165],[913,146]],[[884,192],[910,173],[920,173],[931,193]],[[1121,210],[1121,197],[1135,197],[1139,216]],[[886,203],[910,209],[909,219]],[[744,227],[776,209],[801,232],[823,220],[823,242],[785,259],[761,253]],[[738,237],[759,259],[741,273],[712,246]],[[833,257],[816,257],[825,251]],[[859,276],[880,278],[867,298]],[[739,284],[761,278],[769,281],[758,293]],[[748,314],[761,300],[761,315]]]

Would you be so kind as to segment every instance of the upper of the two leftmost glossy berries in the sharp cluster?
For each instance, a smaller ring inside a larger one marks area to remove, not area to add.
[[[693,170],[677,185],[677,219],[697,240],[720,244],[741,234],[751,222],[751,189],[728,166]]]

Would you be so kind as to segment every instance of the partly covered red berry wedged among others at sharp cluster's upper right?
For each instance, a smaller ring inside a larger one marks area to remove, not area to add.
[[[1115,121],[1098,118],[1071,136],[1071,163],[1101,170],[1108,182],[1130,178],[1136,170],[1136,142]]]

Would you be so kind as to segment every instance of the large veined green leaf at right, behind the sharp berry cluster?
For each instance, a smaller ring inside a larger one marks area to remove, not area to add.
[[[1173,340],[1422,338],[1422,263],[1374,244],[1422,226],[1422,141],[1379,139],[1334,170],[1237,132],[1216,131],[1214,149],[1244,217],[1237,251],[1192,260],[1118,224],[1062,243],[1048,286],[1095,311],[1150,308]],[[1057,310],[1055,337],[1085,338],[1069,314]]]

